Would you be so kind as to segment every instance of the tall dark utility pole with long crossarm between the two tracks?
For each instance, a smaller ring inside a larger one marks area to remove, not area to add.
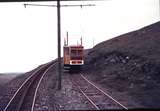
[[[84,6],[95,6],[95,4],[82,4],[82,5],[61,5],[61,0],[57,0],[57,5],[42,5],[42,4],[24,4],[26,6],[47,6],[47,7],[57,7],[57,42],[58,42],[58,89],[60,90],[61,80],[62,80],[62,69],[61,69],[61,7],[84,7]],[[67,41],[68,45],[68,41]]]

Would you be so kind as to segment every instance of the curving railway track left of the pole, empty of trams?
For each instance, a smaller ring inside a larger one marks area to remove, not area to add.
[[[38,88],[43,77],[56,64],[49,62],[37,68],[18,88],[3,111],[34,111]]]

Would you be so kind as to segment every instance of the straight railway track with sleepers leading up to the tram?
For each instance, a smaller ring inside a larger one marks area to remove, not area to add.
[[[90,102],[92,109],[128,109],[82,74],[71,75],[71,81]]]

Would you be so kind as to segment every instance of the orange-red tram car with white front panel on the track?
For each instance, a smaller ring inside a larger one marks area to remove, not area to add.
[[[70,45],[67,44],[63,47],[63,64],[64,68],[81,68],[84,65],[84,47],[81,45]]]

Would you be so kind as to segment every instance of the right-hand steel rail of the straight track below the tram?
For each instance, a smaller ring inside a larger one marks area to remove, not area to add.
[[[103,90],[101,90],[100,88],[98,88],[96,85],[94,85],[92,82],[90,82],[86,77],[84,77],[82,74],[80,74],[81,77],[83,79],[85,79],[88,83],[90,83],[92,86],[94,86],[96,89],[98,89],[99,91],[101,91],[104,95],[108,96],[111,100],[113,100],[114,102],[116,102],[117,104],[119,104],[121,107],[123,107],[124,109],[128,110],[127,107],[125,107],[124,105],[122,105],[120,102],[118,102],[117,100],[115,100],[112,96],[110,96],[109,94],[107,94],[106,92],[104,92]]]

